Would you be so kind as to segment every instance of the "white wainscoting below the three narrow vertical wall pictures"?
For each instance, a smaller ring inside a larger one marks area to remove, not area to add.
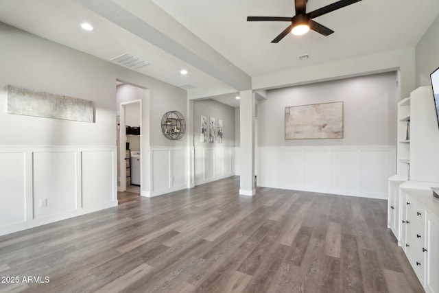
[[[235,147],[195,148],[195,185],[235,175]]]

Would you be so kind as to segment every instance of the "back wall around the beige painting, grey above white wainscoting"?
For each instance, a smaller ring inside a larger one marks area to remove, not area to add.
[[[268,91],[258,104],[258,186],[386,198],[396,165],[396,100],[396,73]],[[343,139],[285,140],[286,106],[339,101]]]

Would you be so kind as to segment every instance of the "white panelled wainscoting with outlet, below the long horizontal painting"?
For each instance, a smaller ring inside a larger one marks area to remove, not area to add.
[[[0,146],[0,235],[117,206],[116,147]]]

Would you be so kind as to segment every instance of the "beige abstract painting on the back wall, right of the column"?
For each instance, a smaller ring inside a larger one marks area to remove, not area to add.
[[[343,102],[285,107],[285,139],[342,139]]]

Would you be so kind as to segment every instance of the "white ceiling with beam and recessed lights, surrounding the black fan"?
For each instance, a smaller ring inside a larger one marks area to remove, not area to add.
[[[307,12],[335,0],[309,0]],[[131,54],[137,71],[211,95],[251,77],[319,62],[414,46],[439,15],[438,0],[363,0],[315,19],[335,31],[271,40],[288,23],[247,16],[293,16],[294,0],[1,0],[0,21],[104,60]],[[84,32],[88,21],[93,32]],[[297,56],[309,54],[305,61]],[[187,69],[188,75],[180,75]]]

